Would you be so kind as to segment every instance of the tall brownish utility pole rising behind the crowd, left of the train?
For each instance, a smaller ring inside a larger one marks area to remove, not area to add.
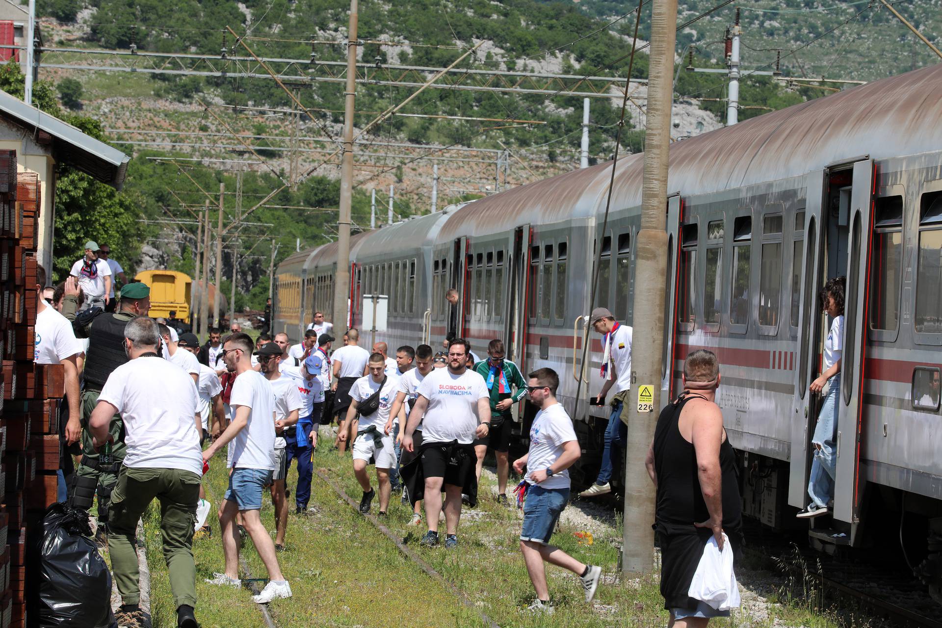
[[[347,330],[350,292],[350,201],[353,193],[353,110],[356,106],[357,0],[350,0],[347,42],[347,89],[344,93],[344,152],[340,162],[340,217],[337,220],[337,283],[333,326]],[[303,313],[301,314],[303,318]]]

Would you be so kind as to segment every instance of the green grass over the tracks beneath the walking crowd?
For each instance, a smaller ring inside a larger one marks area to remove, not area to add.
[[[226,487],[222,460],[214,460],[206,476],[207,499],[215,509]],[[328,475],[350,497],[358,500],[359,485],[353,478],[349,456],[341,459],[327,451],[325,444],[315,455],[315,469]],[[292,468],[289,487],[296,481]],[[556,604],[552,617],[528,615],[524,610],[533,600],[518,547],[520,519],[517,511],[500,507],[490,498],[490,480],[482,482],[484,497],[475,513],[463,517],[461,546],[457,551],[427,549],[418,546],[425,528],[406,527],[410,510],[392,500],[387,527],[422,556],[450,583],[463,592],[502,628],[608,628],[609,626],[663,626],[667,613],[658,591],[658,575],[641,581],[622,581],[616,575],[620,534],[614,530],[596,534],[591,545],[580,544],[576,528],[563,525],[554,542],[584,562],[601,565],[609,578],[600,585],[593,604],[585,604],[577,578],[547,566],[550,594]],[[395,497],[395,496],[394,496]],[[272,618],[280,628],[294,626],[479,626],[479,615],[436,580],[422,572],[395,544],[367,519],[355,513],[322,479],[315,475],[311,504],[319,514],[299,518],[293,514],[289,497],[287,551],[279,555],[282,570],[291,582],[294,597],[269,604]],[[374,502],[374,509],[377,503]],[[274,534],[270,500],[262,508],[262,519]],[[223,569],[219,524],[215,514],[211,539],[194,542],[197,562],[197,618],[206,628],[242,628],[263,625],[261,612],[252,604],[246,589],[215,588],[203,584],[203,578]],[[175,620],[166,567],[160,553],[159,519],[154,505],[145,521],[145,537],[151,568],[152,614],[154,628],[170,627]],[[247,541],[242,556],[252,575],[264,577],[264,566]],[[773,606],[768,618],[754,620],[737,613],[729,620],[715,620],[711,625],[769,628],[775,620],[788,625],[832,628],[838,623],[825,613],[799,603]]]

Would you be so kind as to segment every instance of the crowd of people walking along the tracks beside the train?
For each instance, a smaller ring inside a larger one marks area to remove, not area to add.
[[[453,334],[437,353],[429,345],[399,346],[390,356],[382,341],[367,350],[356,329],[337,343],[319,312],[295,345],[285,333],[272,337],[268,330],[253,342],[236,323],[225,335],[210,329],[201,345],[175,319],[148,317],[147,285],[123,283],[113,291],[110,278],[123,281],[123,274],[121,266],[110,266],[106,249],[89,241],[85,252],[74,276],[54,288],[45,285],[39,268],[36,360],[65,365],[60,423],[69,448],[59,496],[89,509],[97,495],[97,539],[110,551],[122,597],[120,625],[143,625],[134,546],[138,519],[154,499],[161,507],[178,625],[198,625],[192,543],[212,536],[213,527],[199,521],[197,511],[205,495],[203,474],[223,452],[229,480],[218,519],[225,567],[206,582],[240,587],[238,554],[242,539],[250,538],[268,572],[268,584],[253,601],[290,597],[278,559],[286,547],[288,496],[293,488],[296,515],[317,512],[310,504],[312,458],[321,435],[333,439],[340,456],[350,450],[361,513],[377,502],[377,516],[385,517],[394,495],[401,496],[412,509],[408,525],[426,529],[420,544],[448,550],[460,547],[463,507],[477,506],[483,460],[494,451],[500,505],[510,505],[511,469],[524,477],[518,489],[524,505],[520,549],[536,593],[529,610],[553,612],[545,562],[576,574],[592,601],[601,568],[550,544],[569,501],[568,469],[582,451],[557,400],[555,371],[539,368],[525,376],[507,360],[499,339],[488,344],[484,359]],[[632,340],[631,328],[605,308],[593,311],[591,323],[604,347],[605,383],[595,403],[615,393],[602,469],[581,493],[586,497],[611,490],[609,478],[622,454]],[[713,400],[720,381],[716,357],[694,352],[684,375],[685,391],[662,412],[646,461],[658,487],[662,591],[674,625],[715,616],[684,588],[704,539],[712,535],[722,547],[728,538],[739,546],[734,459]],[[529,449],[511,460],[512,411],[525,398],[537,410]],[[74,469],[70,454],[80,456]],[[297,483],[288,487],[294,460]],[[698,483],[702,491],[690,491]],[[274,539],[260,517],[267,498],[275,511]]]

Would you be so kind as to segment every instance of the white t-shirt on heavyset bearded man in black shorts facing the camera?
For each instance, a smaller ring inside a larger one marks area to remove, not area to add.
[[[469,444],[478,427],[478,400],[488,398],[487,384],[471,369],[454,375],[436,368],[418,385],[418,394],[429,400],[422,418],[425,443]]]

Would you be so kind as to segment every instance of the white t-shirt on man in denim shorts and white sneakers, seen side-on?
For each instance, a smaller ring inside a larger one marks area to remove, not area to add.
[[[249,423],[229,442],[229,466],[239,469],[275,468],[275,393],[261,373],[251,369],[235,378],[229,397],[233,417],[236,406],[252,409]]]

